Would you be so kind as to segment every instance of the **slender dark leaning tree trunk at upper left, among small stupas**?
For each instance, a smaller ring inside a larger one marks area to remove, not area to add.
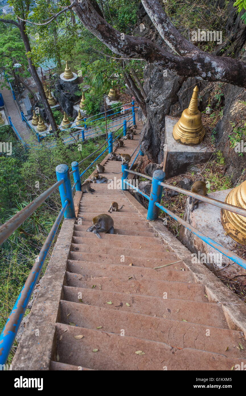
[[[21,38],[22,38],[23,43],[25,45],[26,52],[31,52],[30,42],[29,42],[28,36],[26,34],[26,31],[25,31],[25,22],[19,21],[19,29],[20,29],[20,33],[21,33]],[[30,69],[30,72],[32,74],[32,78],[34,79],[34,82],[35,82],[35,84],[36,84],[36,86],[38,88],[38,92],[39,92],[41,101],[42,101],[42,103],[44,105],[45,112],[46,112],[47,117],[49,119],[49,122],[51,124],[52,131],[54,133],[57,133],[57,137],[59,137],[59,132],[57,131],[57,125],[56,125],[56,122],[55,122],[55,118],[53,116],[53,113],[51,111],[50,105],[49,105],[49,103],[47,101],[47,98],[45,96],[44,87],[43,87],[43,84],[42,84],[42,82],[41,82],[41,80],[40,80],[40,78],[38,76],[36,67],[32,64],[32,60],[27,55],[26,55],[26,57],[27,57],[27,60],[28,60],[29,69]]]

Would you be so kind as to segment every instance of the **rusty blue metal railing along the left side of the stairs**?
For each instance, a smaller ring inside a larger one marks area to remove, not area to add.
[[[134,106],[134,103],[133,103]],[[25,116],[23,114],[23,121],[25,120]],[[17,135],[19,136],[20,140],[23,142],[21,139],[19,133],[17,132],[16,128],[13,126],[11,119],[9,117],[9,122],[12,128],[15,130]],[[28,122],[28,121],[27,121]],[[120,137],[122,133],[126,133],[127,129],[127,122],[131,124],[131,120],[125,120],[122,124],[123,126],[123,131],[115,138],[117,139]],[[121,124],[119,124],[121,125]],[[32,127],[31,127],[32,128]],[[121,129],[121,128],[119,128]],[[115,132],[117,132],[119,129],[117,129]],[[115,140],[114,139],[114,140]],[[98,150],[100,150],[104,145],[108,143],[108,146],[97,156],[93,162],[81,173],[79,174],[79,164],[83,163],[85,160],[93,156]],[[25,143],[23,142],[25,145]],[[13,342],[15,341],[15,337],[17,334],[17,331],[19,329],[19,326],[21,324],[21,321],[23,319],[23,316],[26,311],[26,307],[28,305],[28,302],[30,300],[30,297],[32,295],[32,292],[34,290],[34,287],[36,285],[36,282],[38,280],[38,276],[40,275],[40,272],[42,270],[42,267],[44,265],[45,259],[47,257],[48,251],[51,247],[51,244],[55,238],[55,235],[57,233],[58,227],[61,224],[62,217],[64,215],[65,219],[71,219],[75,218],[75,209],[74,209],[74,200],[72,193],[74,189],[76,191],[81,191],[81,176],[85,174],[85,172],[95,164],[95,162],[100,158],[107,150],[109,153],[113,151],[113,133],[109,133],[108,139],[103,143],[102,146],[100,146],[95,152],[91,153],[88,157],[84,158],[81,160],[79,163],[74,161],[72,162],[72,171],[69,172],[68,166],[65,164],[58,165],[56,167],[56,175],[57,175],[57,183],[55,183],[53,186],[49,187],[45,192],[43,192],[38,198],[36,198],[34,201],[32,201],[30,204],[28,204],[25,208],[23,208],[21,211],[16,213],[11,219],[9,219],[6,223],[4,223],[0,227],[0,244],[2,244],[8,237],[17,230],[18,227],[20,227],[21,224],[24,223],[30,215],[57,189],[59,188],[60,196],[61,196],[61,203],[62,203],[62,208],[61,211],[59,212],[59,215],[57,216],[57,219],[55,220],[55,223],[53,224],[53,227],[51,228],[51,231],[49,232],[49,235],[47,236],[45,243],[40,250],[40,253],[35,260],[34,266],[32,267],[32,270],[30,271],[30,274],[28,275],[25,285],[23,286],[23,289],[21,290],[21,293],[19,294],[19,297],[9,315],[9,319],[6,322],[6,325],[2,331],[2,334],[0,335],[0,364],[5,364],[6,360],[8,358],[9,352],[11,350],[11,346],[13,345]],[[74,176],[74,184],[71,187],[71,181],[70,181],[70,175]]]

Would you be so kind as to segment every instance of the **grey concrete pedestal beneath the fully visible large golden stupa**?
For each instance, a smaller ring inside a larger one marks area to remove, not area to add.
[[[165,117],[166,179],[185,173],[189,165],[202,164],[208,161],[212,155],[212,152],[208,150],[204,143],[197,146],[187,146],[176,142],[172,136],[172,130],[177,121],[178,118]]]

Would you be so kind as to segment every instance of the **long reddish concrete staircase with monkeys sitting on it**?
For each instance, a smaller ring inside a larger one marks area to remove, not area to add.
[[[116,151],[131,154],[137,140]],[[120,162],[102,164],[106,177],[121,177],[112,173],[121,171]],[[229,329],[221,304],[208,301],[204,284],[132,205],[129,192],[93,188],[79,202],[46,369],[231,370],[245,364],[242,331]],[[99,240],[86,229],[113,200],[125,206],[111,215],[115,234]]]

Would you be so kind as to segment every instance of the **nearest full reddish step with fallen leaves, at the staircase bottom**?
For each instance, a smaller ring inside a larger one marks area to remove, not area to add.
[[[246,360],[191,348],[176,349],[165,343],[120,336],[100,330],[57,323],[57,353],[66,364],[96,370],[230,370]],[[66,331],[64,331],[66,330]],[[83,335],[82,339],[74,336]],[[93,350],[98,349],[98,352]],[[136,351],[144,354],[136,354]]]

